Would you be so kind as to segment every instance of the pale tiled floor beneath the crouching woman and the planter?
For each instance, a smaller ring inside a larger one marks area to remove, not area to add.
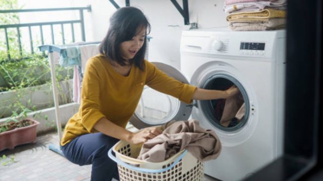
[[[91,165],[79,166],[48,149],[49,144],[58,145],[56,132],[37,137],[36,143],[17,146],[14,150],[4,150],[1,159],[0,180],[90,180]],[[14,162],[10,157],[14,156]],[[7,165],[2,165],[8,161]],[[205,175],[205,181],[216,180]]]

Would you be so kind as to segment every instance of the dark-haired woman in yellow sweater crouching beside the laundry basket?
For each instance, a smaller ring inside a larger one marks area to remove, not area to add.
[[[91,180],[119,179],[118,168],[107,151],[118,140],[139,144],[161,133],[146,128],[125,129],[146,84],[157,91],[190,103],[192,99],[226,99],[238,92],[206,90],[177,81],[144,60],[150,24],[136,8],[121,8],[111,17],[100,44],[100,54],[87,62],[81,105],[67,123],[61,140],[64,155],[79,165],[92,164]]]

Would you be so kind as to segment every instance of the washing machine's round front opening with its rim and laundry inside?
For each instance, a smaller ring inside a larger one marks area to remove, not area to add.
[[[229,99],[196,101],[192,118],[213,129],[224,146],[237,146],[250,138],[257,125],[257,102],[252,86],[241,72],[224,61],[210,61],[196,69],[191,84],[225,91],[236,86],[239,93]]]

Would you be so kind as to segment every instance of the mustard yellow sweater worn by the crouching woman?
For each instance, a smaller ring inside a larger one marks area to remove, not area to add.
[[[105,56],[87,62],[82,81],[81,105],[67,123],[61,145],[75,137],[97,132],[93,126],[105,117],[126,127],[140,100],[144,85],[190,103],[195,86],[184,84],[145,60],[144,70],[132,65],[128,76],[115,71]]]

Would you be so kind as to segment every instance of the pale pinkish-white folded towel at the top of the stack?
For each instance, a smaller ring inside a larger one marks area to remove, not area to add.
[[[233,13],[233,12],[246,12],[246,11],[261,11],[265,8],[272,8],[272,9],[286,9],[286,0],[277,0],[274,2],[268,1],[257,1],[257,2],[250,2],[250,3],[236,3],[231,5],[224,6],[225,13]]]

